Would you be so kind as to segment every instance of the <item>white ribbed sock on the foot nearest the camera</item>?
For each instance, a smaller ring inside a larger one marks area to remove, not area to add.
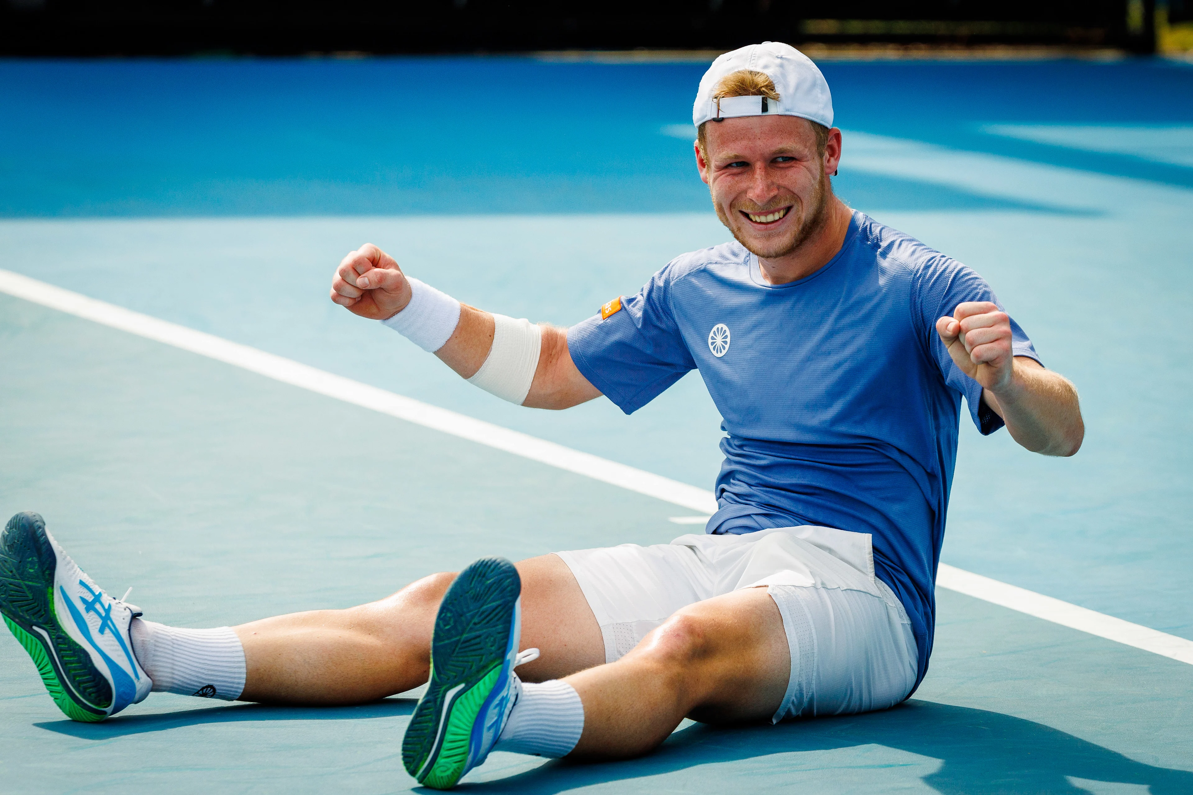
[[[558,758],[570,753],[585,731],[585,706],[576,689],[551,679],[523,683],[495,751]]]

